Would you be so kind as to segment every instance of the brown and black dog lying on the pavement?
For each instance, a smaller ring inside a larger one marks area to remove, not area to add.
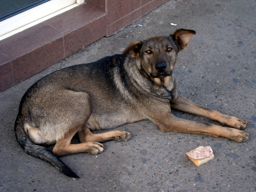
[[[127,141],[131,133],[91,131],[151,120],[161,131],[199,133],[245,142],[249,134],[241,118],[228,116],[178,94],[173,68],[179,51],[188,47],[194,30],[133,41],[120,55],[63,68],[33,84],[22,97],[15,135],[30,155],[79,178],[59,157],[103,152],[102,142]],[[184,120],[171,109],[211,118],[228,127]],[[71,144],[78,133],[80,143]],[[42,146],[55,144],[53,150]]]

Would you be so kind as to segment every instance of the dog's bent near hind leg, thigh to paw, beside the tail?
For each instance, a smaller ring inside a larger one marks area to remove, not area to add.
[[[44,126],[44,134],[51,132],[63,133],[57,137],[56,144],[52,150],[57,156],[72,155],[77,153],[98,154],[103,152],[101,143],[87,142],[71,144],[71,139],[81,129],[91,116],[90,97],[86,93],[71,90],[60,91],[52,96],[52,106],[48,108],[48,122]],[[49,124],[49,123],[48,123]]]

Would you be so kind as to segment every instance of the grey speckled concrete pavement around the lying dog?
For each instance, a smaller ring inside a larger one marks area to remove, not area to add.
[[[0,191],[256,191],[255,6],[254,0],[170,0],[116,35],[99,39],[0,93]],[[128,142],[106,142],[105,152],[98,155],[61,158],[82,177],[75,181],[18,145],[14,121],[19,102],[36,80],[63,67],[121,53],[131,41],[169,35],[178,28],[197,32],[188,49],[180,52],[175,68],[180,94],[248,121],[247,142],[163,133],[150,121],[140,121],[118,128],[132,133]],[[215,155],[199,167],[185,154],[198,146],[211,146]]]

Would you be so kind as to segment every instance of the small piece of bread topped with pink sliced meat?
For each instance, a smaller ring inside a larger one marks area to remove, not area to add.
[[[202,165],[203,163],[206,163],[214,158],[214,154],[210,146],[200,146],[186,154],[188,155],[188,158],[197,166]]]

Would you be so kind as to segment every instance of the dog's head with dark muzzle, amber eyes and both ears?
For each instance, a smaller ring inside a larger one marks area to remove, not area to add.
[[[177,53],[187,49],[194,30],[178,29],[170,36],[150,37],[144,41],[133,41],[123,51],[140,60],[144,72],[151,78],[165,78],[172,75]]]

